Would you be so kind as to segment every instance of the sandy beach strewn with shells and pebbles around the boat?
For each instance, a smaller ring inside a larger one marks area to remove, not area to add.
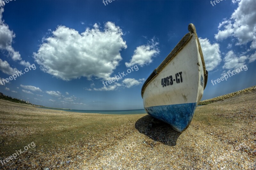
[[[104,115],[0,100],[0,169],[256,169],[255,86],[196,108],[174,131],[147,114]]]

